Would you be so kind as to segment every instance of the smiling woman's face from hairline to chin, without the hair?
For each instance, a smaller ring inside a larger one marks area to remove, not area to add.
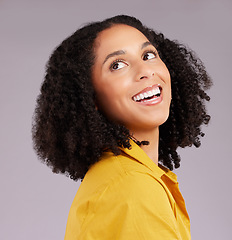
[[[170,74],[156,48],[137,29],[114,25],[95,40],[92,71],[96,107],[131,132],[164,123],[171,100]]]

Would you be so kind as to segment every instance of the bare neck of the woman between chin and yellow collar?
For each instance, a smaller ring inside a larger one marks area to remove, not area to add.
[[[149,141],[149,145],[141,145],[143,151],[158,165],[159,128],[145,131],[134,131],[132,136],[138,141]]]

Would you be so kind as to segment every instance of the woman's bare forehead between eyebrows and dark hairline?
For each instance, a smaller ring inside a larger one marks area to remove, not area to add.
[[[99,56],[99,54],[141,46],[146,41],[148,39],[138,29],[117,24],[100,32],[95,41],[95,52]]]

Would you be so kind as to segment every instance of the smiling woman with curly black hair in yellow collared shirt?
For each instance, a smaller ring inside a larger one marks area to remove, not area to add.
[[[202,62],[120,15],[91,23],[53,52],[37,100],[34,147],[82,183],[65,239],[190,239],[173,165],[208,124]]]

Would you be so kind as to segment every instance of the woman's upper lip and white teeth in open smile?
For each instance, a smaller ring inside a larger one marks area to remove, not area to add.
[[[135,102],[147,102],[160,97],[162,88],[159,84],[143,89],[132,97]]]

